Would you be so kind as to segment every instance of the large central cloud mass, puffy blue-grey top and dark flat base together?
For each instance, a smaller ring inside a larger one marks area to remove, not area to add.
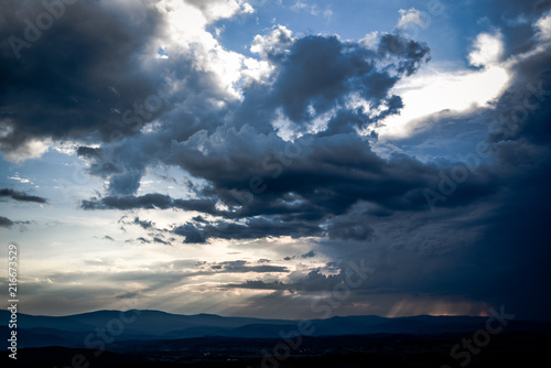
[[[390,90],[401,76],[429,59],[426,45],[385,34],[372,51],[335,36],[293,39],[279,26],[268,36],[257,36],[253,50],[272,64],[272,76],[244,87],[245,98],[225,125],[205,126],[198,120],[194,131],[182,136],[175,131],[182,125],[166,121],[159,132],[137,136],[112,150],[119,158],[114,166],[120,169],[101,164],[101,149],[80,148],[78,153],[93,160],[90,173],[109,178],[112,194],[83,201],[82,207],[180,208],[246,219],[242,224],[190,223],[175,229],[185,242],[205,242],[214,237],[320,236],[325,232],[323,221],[360,201],[392,208],[422,205],[423,176],[434,169],[407,158],[381,160],[360,132],[399,112],[401,99]],[[194,119],[216,120],[206,111],[218,115],[216,109],[204,108]],[[292,127],[273,126],[278,115]],[[284,129],[294,129],[294,140],[283,138]],[[154,160],[181,166],[208,184],[195,193],[196,199],[129,195],[139,187],[148,162]],[[250,193],[251,181],[264,188],[262,193]],[[366,240],[369,234],[329,227],[333,238]]]

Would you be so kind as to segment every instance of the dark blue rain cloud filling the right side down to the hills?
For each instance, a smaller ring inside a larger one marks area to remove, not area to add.
[[[499,12],[506,9],[499,8]],[[396,243],[401,256],[392,255],[391,250],[380,252],[391,261],[385,257],[378,261],[379,286],[400,292],[464,295],[494,306],[505,304],[525,318],[549,320],[545,305],[550,303],[547,280],[551,279],[547,261],[551,257],[547,230],[551,221],[551,51],[531,25],[541,14],[531,13],[531,8],[522,9],[531,17],[527,33],[522,40],[506,39],[507,47],[509,52],[516,47],[517,52],[532,50],[532,53],[518,57],[511,66],[508,89],[493,108],[435,120],[447,125],[451,118],[456,119],[447,134],[461,132],[461,128],[472,129],[474,125],[482,128],[483,134],[471,141],[467,152],[469,165],[475,166],[473,172],[467,172],[466,182],[455,183],[456,190],[446,196],[445,203],[439,203],[432,216],[409,214],[404,224],[410,227],[421,224],[418,231],[422,235],[411,241],[409,231],[402,230],[406,232]],[[511,32],[504,30],[507,34]],[[540,51],[533,52],[538,46]],[[431,128],[420,139],[431,139],[431,133],[437,139],[442,137],[440,130]],[[488,155],[477,156],[477,144],[490,148]],[[460,164],[461,161],[441,160],[439,176],[450,183],[453,167]],[[400,217],[395,213],[392,220],[399,224]],[[431,225],[446,223],[453,224],[447,230]],[[377,229],[378,235],[382,232],[386,239],[392,239],[392,231],[381,231],[380,226]],[[469,239],[457,248],[464,237]],[[410,253],[414,247],[419,247],[417,256]],[[415,263],[425,275],[396,277],[400,269],[407,269],[406,264]],[[432,270],[428,271],[429,268]]]

